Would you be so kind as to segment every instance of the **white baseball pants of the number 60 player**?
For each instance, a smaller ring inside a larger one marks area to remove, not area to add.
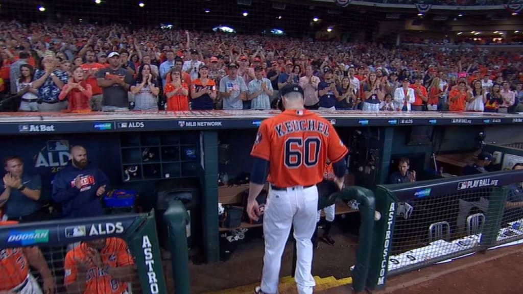
[[[294,226],[294,239],[297,244],[298,262],[294,279],[298,293],[311,294],[316,285],[311,274],[312,242],[316,228],[318,210],[318,189],[316,186],[301,186],[286,190],[269,189],[265,205],[263,231],[265,235],[265,255],[261,291],[267,294],[278,293],[281,256]]]

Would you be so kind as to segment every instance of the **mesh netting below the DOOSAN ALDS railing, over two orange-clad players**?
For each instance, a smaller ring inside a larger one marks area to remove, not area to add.
[[[71,234],[85,235],[73,229]],[[134,258],[122,239],[42,245],[49,238],[47,230],[9,238],[7,242],[35,244],[0,250],[0,292],[132,293],[133,287],[140,289]]]

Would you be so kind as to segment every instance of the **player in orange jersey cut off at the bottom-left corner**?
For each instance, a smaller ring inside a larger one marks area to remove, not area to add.
[[[14,224],[18,222],[0,222],[0,225]],[[43,291],[29,272],[29,266],[37,269],[42,276]],[[0,250],[0,294],[51,294],[54,288],[54,278],[37,246]]]

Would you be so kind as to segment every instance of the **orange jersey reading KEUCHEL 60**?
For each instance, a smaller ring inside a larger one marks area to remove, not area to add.
[[[320,183],[327,159],[337,162],[347,152],[329,121],[286,110],[261,122],[251,155],[269,161],[269,183],[285,188]]]

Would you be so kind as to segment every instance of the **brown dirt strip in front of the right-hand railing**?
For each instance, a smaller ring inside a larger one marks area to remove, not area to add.
[[[434,265],[391,278],[390,294],[520,294],[523,293],[523,247],[476,253],[452,263]]]

